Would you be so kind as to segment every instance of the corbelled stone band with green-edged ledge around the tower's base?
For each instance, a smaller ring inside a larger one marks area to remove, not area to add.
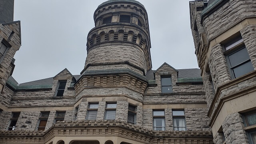
[[[90,70],[75,84],[76,95],[84,88],[128,87],[141,94],[147,87],[146,77],[133,72],[130,69]]]

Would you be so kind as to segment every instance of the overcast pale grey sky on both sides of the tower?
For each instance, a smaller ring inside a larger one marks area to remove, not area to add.
[[[80,74],[93,13],[106,0],[15,0],[22,46],[14,58],[18,83],[53,77],[64,68]],[[149,19],[152,70],[164,62],[176,69],[198,68],[190,30],[190,0],[138,0]]]

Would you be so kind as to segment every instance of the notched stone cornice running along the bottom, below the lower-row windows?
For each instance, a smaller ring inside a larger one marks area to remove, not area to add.
[[[16,136],[13,138],[12,136]],[[62,121],[48,131],[0,131],[0,143],[44,144],[54,136],[120,136],[145,144],[213,144],[211,131],[154,131],[118,120]],[[30,137],[30,138],[28,138]]]

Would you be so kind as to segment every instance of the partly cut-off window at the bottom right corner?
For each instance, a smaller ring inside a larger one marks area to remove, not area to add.
[[[256,125],[256,111],[244,114],[243,119],[245,126]],[[256,144],[256,130],[250,130],[247,133],[250,144]]]

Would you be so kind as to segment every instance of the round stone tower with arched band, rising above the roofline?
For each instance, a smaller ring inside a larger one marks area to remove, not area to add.
[[[82,72],[126,68],[145,76],[152,68],[145,7],[136,0],[108,0],[95,10],[94,22]]]

